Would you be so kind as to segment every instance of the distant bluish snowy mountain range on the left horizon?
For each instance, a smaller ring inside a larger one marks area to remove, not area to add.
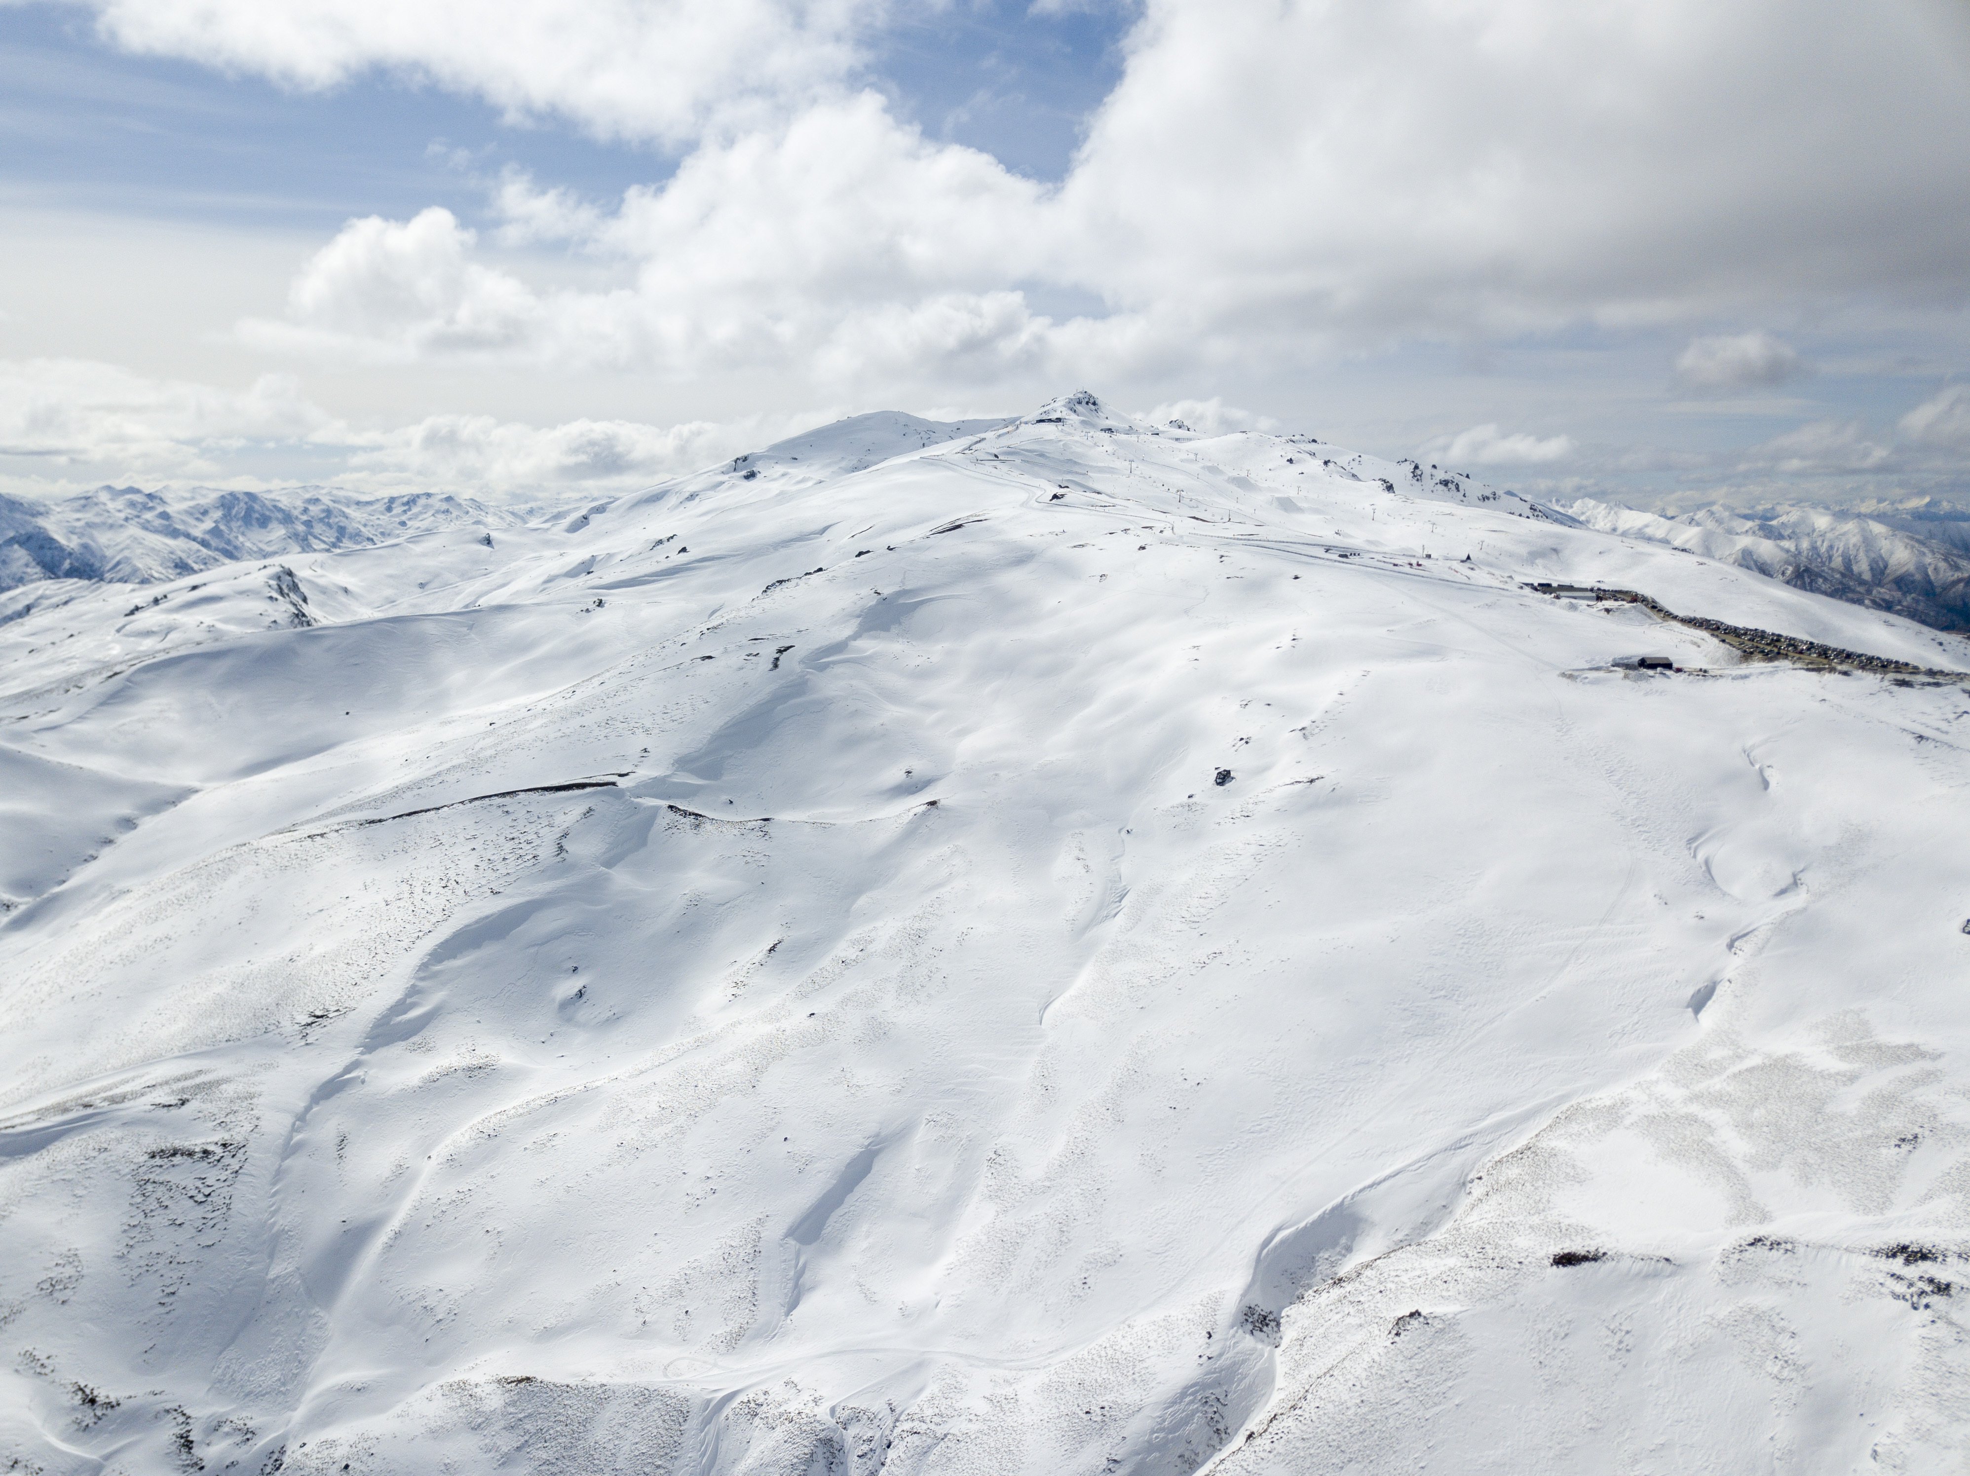
[[[366,548],[433,528],[504,528],[520,514],[449,493],[351,497],[329,487],[240,493],[97,487],[0,497],[0,591],[45,579],[158,583],[236,560]]]

